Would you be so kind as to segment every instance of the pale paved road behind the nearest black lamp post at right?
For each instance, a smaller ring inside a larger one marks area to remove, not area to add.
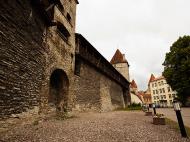
[[[159,108],[158,113],[163,113],[167,118],[177,122],[176,113],[173,108]],[[184,125],[190,127],[190,108],[181,108],[181,115],[184,121]]]

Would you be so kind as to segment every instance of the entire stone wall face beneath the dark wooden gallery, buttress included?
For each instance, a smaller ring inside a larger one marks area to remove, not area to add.
[[[80,111],[110,111],[124,107],[122,87],[82,61],[76,108]]]

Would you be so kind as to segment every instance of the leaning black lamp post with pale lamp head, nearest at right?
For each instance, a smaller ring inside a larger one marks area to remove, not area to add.
[[[180,128],[180,131],[181,131],[181,136],[182,137],[187,137],[185,126],[184,126],[183,119],[182,119],[182,116],[181,116],[181,108],[180,108],[179,102],[176,101],[176,100],[174,100],[174,110],[176,112],[179,128]]]

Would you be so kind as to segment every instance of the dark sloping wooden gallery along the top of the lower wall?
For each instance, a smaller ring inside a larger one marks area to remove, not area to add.
[[[128,90],[129,82],[81,34],[76,33],[75,38],[76,59],[87,62]]]

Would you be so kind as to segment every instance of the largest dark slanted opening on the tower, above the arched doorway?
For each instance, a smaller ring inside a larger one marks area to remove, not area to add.
[[[60,23],[60,22],[57,23],[57,31],[58,31],[58,34],[59,34],[65,41],[68,42],[69,37],[70,37],[70,33],[69,33],[69,31],[66,29],[66,27],[65,27],[62,23]]]

